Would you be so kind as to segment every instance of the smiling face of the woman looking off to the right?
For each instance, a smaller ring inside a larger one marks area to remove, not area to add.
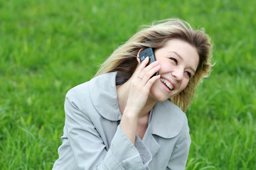
[[[196,72],[199,62],[196,48],[183,40],[169,40],[154,52],[159,61],[161,75],[150,90],[150,97],[156,101],[166,101],[183,91]]]

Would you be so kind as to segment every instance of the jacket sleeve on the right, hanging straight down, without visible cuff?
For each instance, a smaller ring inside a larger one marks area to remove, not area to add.
[[[166,169],[184,170],[190,145],[191,137],[189,135],[188,120],[186,118]]]

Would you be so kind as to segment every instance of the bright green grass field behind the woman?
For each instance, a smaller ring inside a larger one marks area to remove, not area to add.
[[[256,1],[0,0],[0,167],[51,169],[68,89],[142,24],[181,18],[214,43],[188,109],[186,169],[256,169]]]

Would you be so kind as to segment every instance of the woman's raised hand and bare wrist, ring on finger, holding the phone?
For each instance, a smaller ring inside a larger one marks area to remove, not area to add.
[[[149,97],[151,86],[160,78],[160,75],[152,77],[160,69],[159,62],[153,62],[146,67],[148,62],[149,57],[146,57],[132,74],[128,99],[120,123],[120,128],[133,144],[135,143],[138,118],[148,113],[143,113],[142,110]]]

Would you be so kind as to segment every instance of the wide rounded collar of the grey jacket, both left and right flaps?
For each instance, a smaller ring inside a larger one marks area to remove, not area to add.
[[[93,106],[102,117],[110,121],[121,120],[117,102],[117,72],[102,74],[89,81],[89,94]],[[171,101],[156,103],[151,111],[152,134],[164,138],[178,135],[186,119],[185,113]]]

